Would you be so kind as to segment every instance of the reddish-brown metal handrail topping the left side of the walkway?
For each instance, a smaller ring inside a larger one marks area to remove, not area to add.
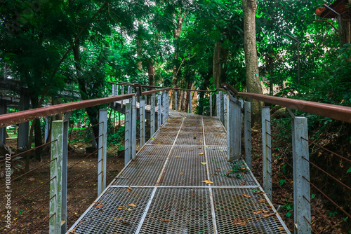
[[[162,92],[170,90],[171,88],[164,88],[161,90],[150,90],[143,92],[142,95],[150,95],[154,92]],[[123,99],[132,98],[135,93],[130,93],[128,95],[119,95],[114,97],[102,97],[98,99],[88,99],[79,102],[69,102],[58,104],[54,106],[46,106],[37,109],[31,109],[27,111],[18,111],[15,113],[6,113],[0,116],[0,128],[4,128],[8,125],[14,125],[18,123],[24,123],[31,121],[34,118],[44,118],[47,116],[53,116],[59,113],[67,113],[69,111],[75,111],[78,109],[84,109],[91,106],[98,106],[102,104],[117,102]]]

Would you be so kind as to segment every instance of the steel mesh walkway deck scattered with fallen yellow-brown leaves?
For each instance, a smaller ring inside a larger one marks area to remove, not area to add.
[[[217,118],[169,117],[68,233],[290,233],[251,172],[225,176],[225,154]]]

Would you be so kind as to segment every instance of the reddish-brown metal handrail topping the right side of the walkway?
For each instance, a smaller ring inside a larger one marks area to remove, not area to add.
[[[286,97],[273,97],[268,95],[261,95],[258,93],[251,92],[237,92],[228,83],[222,83],[223,88],[230,90],[231,92],[237,93],[240,97],[248,97],[256,99],[258,101],[267,102],[270,104],[277,104],[290,109],[296,109],[307,113],[314,113],[319,116],[333,118],[338,121],[344,121],[351,123],[351,107],[349,106],[338,106],[333,104],[326,104],[320,102],[303,101],[299,99],[292,99]]]

